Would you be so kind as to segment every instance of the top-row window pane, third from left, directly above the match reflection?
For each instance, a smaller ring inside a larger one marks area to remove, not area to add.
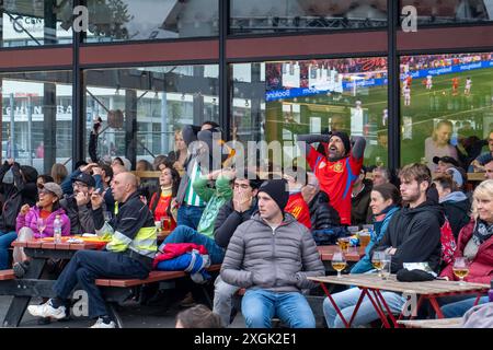
[[[387,0],[231,0],[231,34],[370,28],[387,25]]]

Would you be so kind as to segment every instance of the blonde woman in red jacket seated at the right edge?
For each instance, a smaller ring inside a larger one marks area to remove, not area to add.
[[[472,219],[460,230],[455,257],[468,258],[469,273],[463,278],[467,282],[490,284],[493,279],[493,179],[478,185],[472,195]],[[450,281],[457,281],[454,275],[454,262],[440,273]],[[442,307],[445,317],[461,317],[474,304],[475,296],[444,298]],[[488,303],[488,296],[480,299]]]

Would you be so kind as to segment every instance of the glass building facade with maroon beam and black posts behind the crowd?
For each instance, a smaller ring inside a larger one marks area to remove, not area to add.
[[[72,31],[79,5],[87,32]],[[286,162],[298,133],[344,130],[367,139],[366,165],[391,168],[433,167],[433,155],[467,167],[493,130],[490,0],[5,0],[0,11],[1,154],[41,173],[87,159],[98,117],[99,154],[134,166],[205,120],[228,140],[278,141]]]

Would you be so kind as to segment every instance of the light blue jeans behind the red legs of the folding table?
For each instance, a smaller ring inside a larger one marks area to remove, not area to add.
[[[346,319],[346,322],[349,322],[351,316],[353,315],[353,312],[356,308],[355,306],[356,303],[358,302],[360,294],[362,290],[358,288],[351,288],[348,290],[345,290],[344,292],[332,294],[332,299],[334,300],[337,307],[341,310],[341,313]],[[402,306],[404,306],[405,303],[405,299],[402,298],[401,294],[392,292],[381,292],[381,295],[386,300],[387,304],[390,307],[390,311],[393,314],[401,313]],[[343,320],[339,316],[329,298],[325,298],[323,301],[323,315],[325,316],[326,325],[329,328],[345,327]],[[365,295],[351,326],[357,327],[367,325],[370,322],[379,318],[380,317],[377,311],[375,310],[374,305],[371,304],[370,300],[368,299],[367,295]]]

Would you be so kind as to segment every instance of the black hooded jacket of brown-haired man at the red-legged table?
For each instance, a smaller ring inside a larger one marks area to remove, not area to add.
[[[397,248],[392,256],[392,273],[402,269],[403,262],[428,262],[438,272],[442,255],[440,228],[444,222],[443,209],[433,200],[413,209],[402,208],[393,214],[383,237],[370,254],[388,247]]]

